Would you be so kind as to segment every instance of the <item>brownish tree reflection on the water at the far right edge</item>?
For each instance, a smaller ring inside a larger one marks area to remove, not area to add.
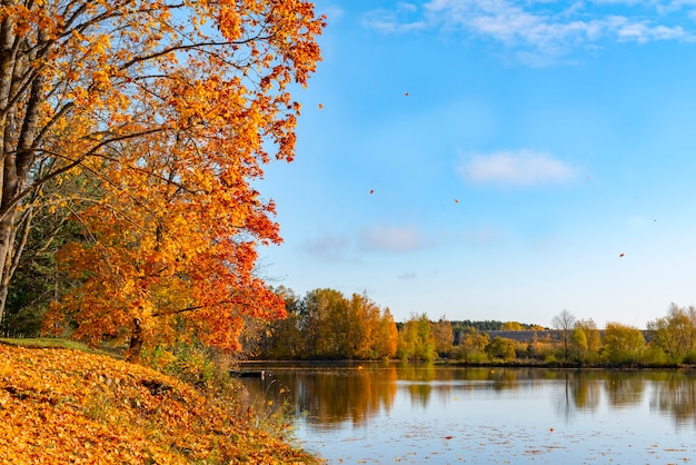
[[[696,380],[682,373],[670,373],[653,392],[650,408],[669,414],[678,425],[696,424]]]

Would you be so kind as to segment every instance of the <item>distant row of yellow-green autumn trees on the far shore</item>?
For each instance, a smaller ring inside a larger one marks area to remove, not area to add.
[[[524,363],[674,366],[696,363],[696,309],[672,305],[642,330],[620,323],[599,329],[568,310],[551,328],[518,321],[431,320],[425,313],[395,323],[367,295],[315,289],[299,297],[280,289],[288,317],[248,337],[259,359],[458,360],[467,364]]]

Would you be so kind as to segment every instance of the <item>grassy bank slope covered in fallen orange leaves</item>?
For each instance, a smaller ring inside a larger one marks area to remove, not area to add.
[[[238,407],[109,356],[0,345],[1,464],[304,464]]]

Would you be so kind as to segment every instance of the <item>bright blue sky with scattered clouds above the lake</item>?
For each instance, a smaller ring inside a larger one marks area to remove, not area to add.
[[[271,284],[397,320],[643,328],[696,304],[695,0],[316,8],[297,157],[259,187]]]

